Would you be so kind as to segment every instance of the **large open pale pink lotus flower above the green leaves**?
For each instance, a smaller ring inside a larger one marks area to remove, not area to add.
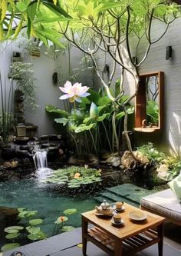
[[[90,93],[86,92],[89,87],[81,86],[81,83],[75,83],[71,85],[71,81],[66,81],[64,87],[59,87],[65,95],[61,95],[60,99],[64,100],[69,98],[70,102],[81,102],[81,97],[87,97]]]

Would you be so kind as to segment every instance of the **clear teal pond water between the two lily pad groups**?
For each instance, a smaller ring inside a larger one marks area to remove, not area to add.
[[[27,211],[38,211],[35,218],[44,220],[39,226],[49,237],[54,229],[54,221],[64,215],[64,210],[77,209],[77,213],[68,215],[66,225],[80,227],[81,212],[89,211],[97,204],[94,195],[67,197],[46,188],[47,185],[41,184],[35,179],[2,182],[0,183],[0,207],[26,208]],[[1,242],[0,245],[2,245]]]

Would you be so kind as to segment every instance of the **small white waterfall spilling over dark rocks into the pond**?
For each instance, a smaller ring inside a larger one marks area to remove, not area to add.
[[[47,151],[37,151],[33,156],[33,160],[37,169],[38,179],[47,178],[51,173],[51,169],[48,168]]]

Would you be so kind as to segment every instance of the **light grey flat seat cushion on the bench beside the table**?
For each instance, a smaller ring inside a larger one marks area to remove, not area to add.
[[[141,198],[140,204],[150,211],[181,221],[181,204],[170,188]]]

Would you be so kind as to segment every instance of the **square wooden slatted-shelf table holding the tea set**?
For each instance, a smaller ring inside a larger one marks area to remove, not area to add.
[[[134,255],[138,251],[158,243],[158,255],[163,256],[163,221],[165,218],[146,212],[144,221],[132,221],[128,217],[130,211],[138,210],[130,204],[123,204],[121,212],[123,225],[113,225],[111,218],[99,218],[96,211],[87,211],[82,216],[83,254],[86,255],[87,241],[91,241],[107,254],[121,256]],[[91,228],[88,228],[88,224]]]

